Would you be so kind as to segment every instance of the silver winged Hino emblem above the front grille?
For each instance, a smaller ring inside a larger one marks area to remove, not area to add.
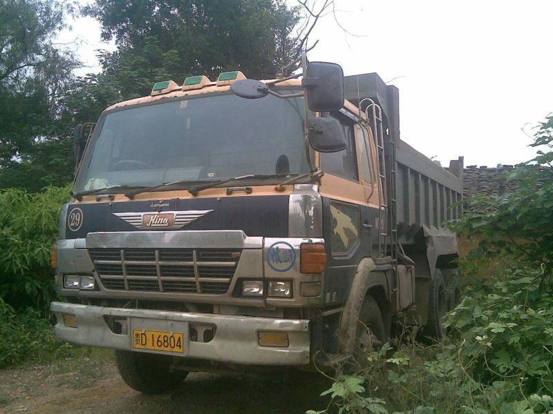
[[[120,219],[143,230],[176,229],[203,217],[213,210],[149,211],[144,213],[112,213]]]

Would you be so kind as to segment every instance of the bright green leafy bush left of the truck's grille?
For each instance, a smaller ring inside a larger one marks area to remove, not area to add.
[[[50,253],[59,209],[68,197],[68,188],[55,187],[35,194],[0,193],[0,298],[6,304],[47,312],[55,295]]]

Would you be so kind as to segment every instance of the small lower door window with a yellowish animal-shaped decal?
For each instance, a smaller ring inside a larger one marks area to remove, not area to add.
[[[359,206],[331,201],[330,215],[332,216],[332,236],[330,239],[332,254],[345,255],[350,253],[357,244],[357,240],[359,240],[361,229]]]

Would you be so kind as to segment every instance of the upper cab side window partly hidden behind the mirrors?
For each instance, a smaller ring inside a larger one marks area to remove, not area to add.
[[[355,122],[338,112],[327,116],[340,121],[346,139],[346,149],[339,152],[321,152],[321,169],[337,177],[359,181],[355,151]]]

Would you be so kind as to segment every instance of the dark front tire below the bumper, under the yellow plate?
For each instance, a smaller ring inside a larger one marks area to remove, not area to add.
[[[171,371],[171,357],[150,353],[115,351],[115,362],[124,382],[144,394],[160,394],[176,388],[187,371]]]

